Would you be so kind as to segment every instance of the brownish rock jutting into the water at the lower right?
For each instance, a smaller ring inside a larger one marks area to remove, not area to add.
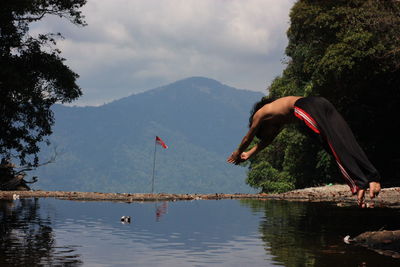
[[[346,236],[344,242],[367,247],[385,256],[400,258],[400,230],[365,232],[352,239]]]

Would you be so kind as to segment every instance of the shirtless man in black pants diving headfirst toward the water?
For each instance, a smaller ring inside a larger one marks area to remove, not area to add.
[[[353,194],[361,207],[365,206],[365,190],[370,189],[370,197],[379,194],[380,177],[358,145],[352,131],[333,105],[323,97],[287,96],[276,100],[263,98],[256,103],[250,116],[250,129],[239,148],[227,162],[239,164],[269,145],[283,126],[302,120],[312,131],[320,134],[328,152],[333,155]],[[261,140],[245,152],[254,136]]]

